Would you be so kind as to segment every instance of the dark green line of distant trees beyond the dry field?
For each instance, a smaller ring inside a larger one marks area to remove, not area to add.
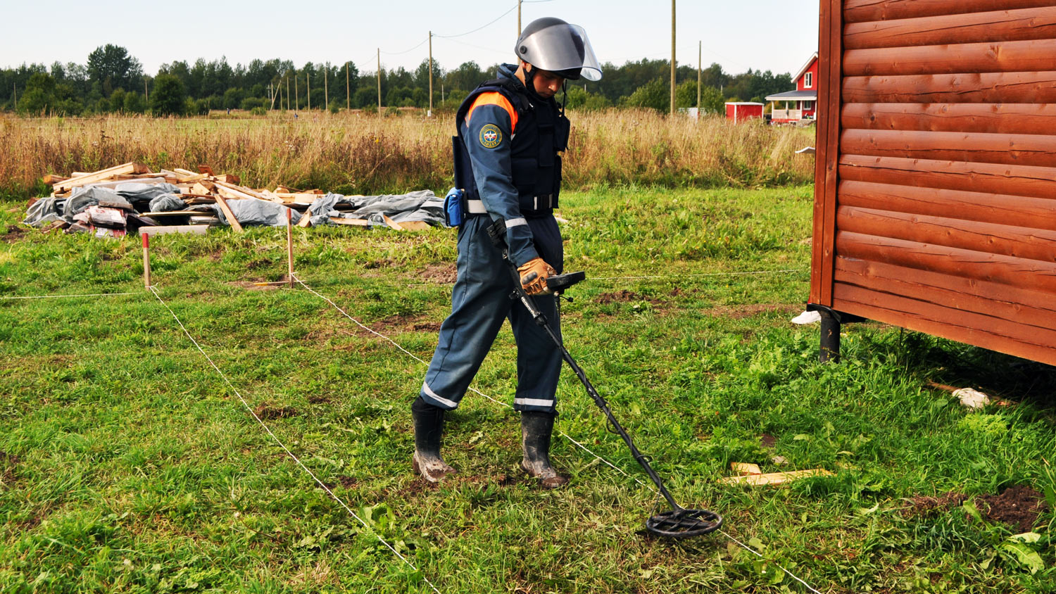
[[[671,62],[628,61],[603,64],[598,82],[569,81],[567,107],[597,110],[638,107],[666,111],[670,107]],[[494,77],[498,64],[482,69],[464,62],[445,70],[433,60],[433,107],[453,110],[469,91]],[[408,71],[380,69],[382,108],[429,107],[429,60]],[[25,64],[0,70],[0,110],[23,115],[94,115],[107,113],[204,115],[210,110],[323,110],[345,108],[374,111],[378,107],[378,72],[360,72],[354,62],[307,62],[256,59],[231,65],[226,58],[193,64],[173,61],[148,75],[125,47],[107,44],[88,56],[87,63]],[[767,95],[794,89],[789,73],[749,70],[729,74],[717,63],[700,73],[700,108],[720,113],[729,100],[761,101]],[[676,70],[675,101],[679,108],[697,106],[697,69]]]

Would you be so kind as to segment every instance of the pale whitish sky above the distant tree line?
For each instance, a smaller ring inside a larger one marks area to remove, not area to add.
[[[113,43],[127,47],[150,75],[165,62],[222,56],[231,65],[253,58],[290,59],[298,66],[352,60],[360,72],[373,72],[377,47],[383,68],[411,70],[428,58],[432,30],[433,59],[451,70],[468,60],[482,66],[512,61],[517,33],[516,0],[7,4],[0,66],[84,63],[92,50]],[[680,0],[677,8],[680,64],[697,64],[700,41],[705,68],[718,62],[733,74],[750,68],[794,74],[817,49],[818,0]],[[671,3],[664,0],[546,0],[522,6],[523,25],[551,16],[585,27],[602,62],[671,56]]]

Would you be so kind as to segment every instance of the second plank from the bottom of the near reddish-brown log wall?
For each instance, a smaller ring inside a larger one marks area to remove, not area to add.
[[[987,311],[1012,322],[1056,328],[1056,300],[1031,291],[883,262],[836,257],[836,282],[966,311]]]

